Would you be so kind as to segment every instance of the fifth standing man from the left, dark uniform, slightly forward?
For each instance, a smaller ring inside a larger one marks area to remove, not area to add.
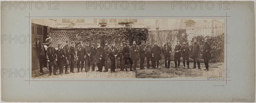
[[[81,61],[81,72],[83,72],[83,67],[84,67],[84,60],[86,58],[87,55],[87,51],[84,47],[83,42],[80,42],[80,47],[78,47],[77,50],[77,72],[80,72],[79,68],[80,68],[80,61]]]

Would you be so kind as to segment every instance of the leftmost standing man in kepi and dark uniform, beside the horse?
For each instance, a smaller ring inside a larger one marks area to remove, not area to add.
[[[49,42],[49,47],[47,48],[47,61],[49,63],[49,75],[52,75],[52,65],[53,65],[53,75],[57,75],[57,63],[56,63],[56,50],[53,47],[52,42]]]

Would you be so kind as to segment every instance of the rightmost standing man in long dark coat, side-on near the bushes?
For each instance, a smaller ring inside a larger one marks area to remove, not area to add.
[[[212,58],[210,50],[212,50],[211,46],[208,44],[207,39],[204,39],[204,48],[203,48],[203,58],[205,64],[205,71],[209,70],[209,59]]]

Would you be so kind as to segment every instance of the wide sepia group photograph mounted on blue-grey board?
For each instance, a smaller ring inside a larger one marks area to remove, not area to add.
[[[224,19],[32,19],[32,43],[32,78],[224,75]]]

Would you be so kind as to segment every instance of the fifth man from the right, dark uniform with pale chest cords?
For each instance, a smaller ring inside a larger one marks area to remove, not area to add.
[[[169,45],[169,39],[166,39],[166,44],[163,45],[162,53],[164,56],[164,66],[166,68],[169,68],[170,62],[171,62],[171,53],[172,53],[172,46]]]

